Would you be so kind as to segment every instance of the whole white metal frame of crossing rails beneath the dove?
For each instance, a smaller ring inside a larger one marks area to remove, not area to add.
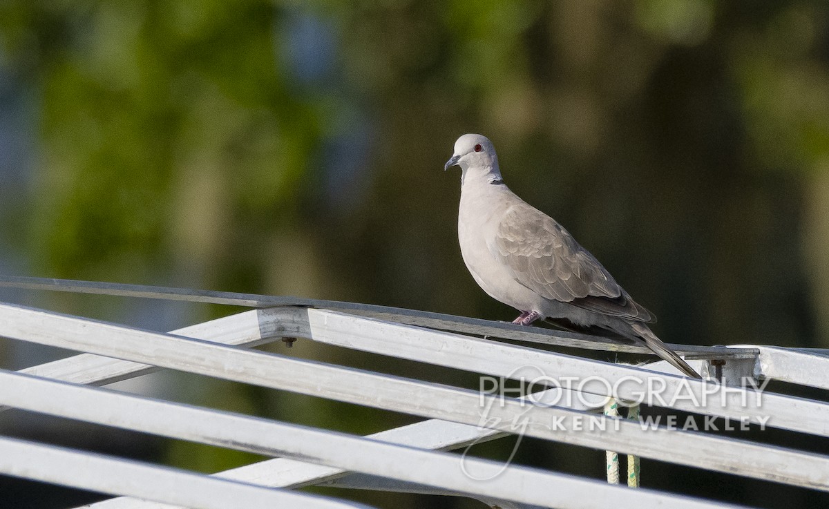
[[[518,433],[829,492],[827,456],[696,431],[646,429],[638,422],[592,411],[612,396],[829,436],[829,404],[734,385],[749,376],[753,381],[776,379],[827,390],[826,351],[671,346],[721,382],[710,383],[678,376],[665,362],[623,366],[526,346],[645,351],[611,339],[437,313],[53,279],[5,277],[0,286],[255,308],[162,334],[0,304],[0,336],[83,352],[22,371],[0,371],[0,405],[5,405],[0,410],[29,410],[273,458],[207,476],[0,436],[0,473],[119,496],[90,507],[364,507],[290,491],[309,485],[463,495],[504,508],[598,508],[611,503],[619,508],[726,506],[479,458],[465,457],[461,468],[458,455],[441,452]],[[524,398],[501,397],[250,349],[296,337],[486,376],[536,376],[545,383]],[[426,420],[359,437],[99,387],[156,369],[288,390]],[[574,390],[555,382],[568,378],[605,383]],[[666,391],[683,397],[665,400],[659,395]],[[574,392],[590,395],[597,403],[562,397]],[[584,419],[595,425],[585,427]],[[468,475],[470,471],[486,473],[482,477],[487,481]]]

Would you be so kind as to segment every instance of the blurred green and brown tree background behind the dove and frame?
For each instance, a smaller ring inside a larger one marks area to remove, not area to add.
[[[511,319],[458,250],[459,172],[443,164],[469,132],[492,138],[510,187],[651,308],[667,342],[829,347],[824,0],[6,0],[0,269]],[[158,330],[231,312],[9,298]],[[3,367],[56,355],[20,348],[0,347]],[[273,349],[442,376],[303,342]],[[195,377],[154,380],[181,400],[353,433],[410,422]],[[136,443],[136,456],[186,468],[250,461]],[[600,477],[593,459],[549,444],[519,454]],[[818,501],[643,465],[646,486],[760,507]],[[45,489],[3,486],[21,493],[8,507]],[[50,493],[31,507],[73,500]]]

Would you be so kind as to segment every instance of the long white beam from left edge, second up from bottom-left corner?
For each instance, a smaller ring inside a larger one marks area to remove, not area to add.
[[[543,507],[599,509],[607,507],[611,501],[617,507],[679,506],[674,496],[658,492],[628,490],[536,468],[505,468],[491,460],[462,460],[448,453],[50,381],[10,371],[0,371],[0,401],[23,410],[269,456],[301,458],[312,463],[417,482],[452,492],[480,494]],[[484,477],[486,481],[482,482],[469,473]],[[588,498],[589,501],[585,500]],[[693,499],[686,499],[686,502],[690,504],[686,507],[705,507],[704,502]]]

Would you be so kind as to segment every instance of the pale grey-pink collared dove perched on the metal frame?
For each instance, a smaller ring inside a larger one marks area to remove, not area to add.
[[[490,297],[521,311],[513,323],[538,318],[579,331],[597,327],[635,342],[693,378],[701,378],[647,323],[653,315],[616,283],[593,254],[550,216],[521,200],[501,177],[492,142],[464,134],[445,169],[459,166],[458,240],[463,262]]]

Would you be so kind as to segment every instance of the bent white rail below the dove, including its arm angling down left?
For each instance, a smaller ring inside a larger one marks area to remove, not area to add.
[[[36,321],[36,318],[34,319]],[[259,345],[277,337],[308,337],[318,342],[466,371],[478,371],[493,376],[530,375],[550,380],[602,376],[613,385],[624,382],[616,385],[618,390],[612,394],[621,399],[636,400],[641,397],[640,394],[644,394],[649,405],[667,406],[676,410],[719,417],[748,418],[755,423],[772,415],[773,419],[763,421],[763,424],[809,434],[826,436],[829,433],[829,405],[820,401],[764,394],[760,400],[761,408],[758,405],[758,396],[750,390],[729,388],[720,391],[713,385],[667,375],[659,376],[660,387],[664,387],[667,394],[686,394],[689,397],[662,401],[654,398],[647,391],[647,386],[640,383],[652,380],[653,376],[656,376],[650,371],[643,372],[641,368],[537,351],[321,309],[271,308],[251,311],[185,327],[170,334],[247,346]],[[395,341],[388,341],[388,337],[395,337]],[[531,368],[528,369],[528,366]],[[83,354],[29,368],[23,372],[75,383],[100,385],[119,381],[130,375],[135,376],[150,369],[153,369],[152,366],[147,364]],[[600,392],[602,395],[611,395],[606,391],[608,388],[612,386],[594,385],[584,387],[584,390],[604,390]],[[725,395],[725,400],[718,397],[720,394]],[[567,402],[562,398],[560,404]],[[580,403],[579,399],[575,398],[569,402]],[[584,410],[583,406],[576,408]],[[802,419],[804,413],[815,418]]]

